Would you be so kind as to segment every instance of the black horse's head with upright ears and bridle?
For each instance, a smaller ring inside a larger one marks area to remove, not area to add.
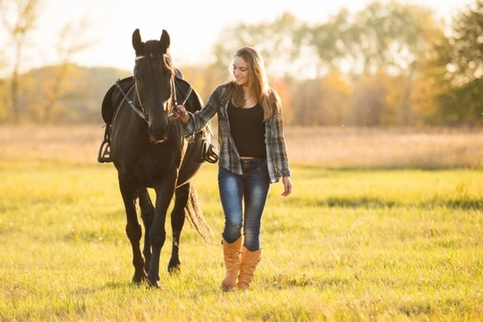
[[[169,55],[170,39],[163,30],[159,40],[141,41],[140,30],[132,33],[132,47],[136,51],[134,80],[137,97],[147,115],[151,140],[166,140],[169,131],[168,113],[172,108],[174,68]]]

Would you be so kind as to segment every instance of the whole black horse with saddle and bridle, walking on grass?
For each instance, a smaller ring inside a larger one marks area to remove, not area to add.
[[[160,40],[142,42],[140,30],[135,30],[132,46],[136,53],[132,86],[129,79],[116,83],[103,102],[105,121],[105,114],[110,117],[106,121],[110,150],[104,154],[109,157],[107,162],[114,162],[118,172],[127,216],[126,233],[133,252],[132,282],[140,284],[147,278],[148,284],[157,287],[166,213],[173,197],[173,250],[168,271],[173,273],[181,265],[179,243],[185,215],[203,239],[209,240],[211,230],[199,210],[192,178],[202,165],[199,156],[209,146],[210,134],[205,129],[189,142],[183,137],[181,122],[170,114],[177,104],[183,104],[191,112],[203,104],[198,93],[176,76],[168,33],[163,30]],[[116,100],[120,103],[116,104]],[[148,188],[156,191],[154,206]],[[142,254],[137,200],[145,229]]]

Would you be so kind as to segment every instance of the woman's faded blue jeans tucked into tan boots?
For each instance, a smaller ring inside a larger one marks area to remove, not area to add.
[[[261,217],[270,189],[270,177],[267,159],[242,159],[241,163],[242,175],[225,168],[220,168],[218,173],[218,188],[225,212],[223,238],[226,242],[235,242],[242,236],[243,227],[243,246],[255,251],[260,249]]]

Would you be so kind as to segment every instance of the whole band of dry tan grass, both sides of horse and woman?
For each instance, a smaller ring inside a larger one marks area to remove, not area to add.
[[[101,125],[4,126],[3,160],[20,165],[91,165]],[[217,142],[216,137],[214,140]],[[483,130],[286,127],[292,164],[327,168],[481,168]]]

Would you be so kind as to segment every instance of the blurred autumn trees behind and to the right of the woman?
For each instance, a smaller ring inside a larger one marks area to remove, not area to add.
[[[373,2],[309,25],[290,13],[224,30],[221,68],[258,44],[300,125],[473,125],[483,113],[483,0],[451,24],[417,4]]]

